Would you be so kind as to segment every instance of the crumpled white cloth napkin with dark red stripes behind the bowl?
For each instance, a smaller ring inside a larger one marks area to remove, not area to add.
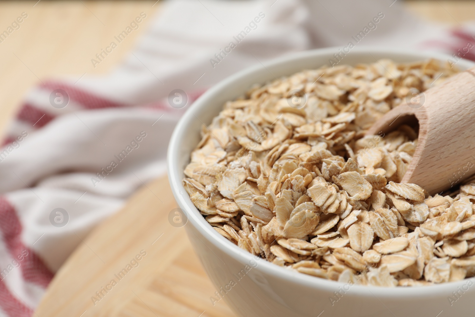
[[[276,56],[349,42],[451,53],[474,42],[468,29],[451,33],[391,2],[171,0],[156,17],[144,12],[150,29],[110,75],[32,89],[0,150],[0,317],[31,316],[87,233],[165,172],[174,125],[220,79]],[[168,102],[175,89],[187,93],[182,109]]]

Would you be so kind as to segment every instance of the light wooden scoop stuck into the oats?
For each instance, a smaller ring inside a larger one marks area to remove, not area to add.
[[[415,183],[436,194],[475,174],[475,67],[409,95],[367,135],[387,133],[401,124],[419,126],[418,145],[401,183]]]

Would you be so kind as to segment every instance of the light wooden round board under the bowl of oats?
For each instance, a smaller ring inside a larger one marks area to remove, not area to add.
[[[84,242],[55,275],[37,315],[235,316],[223,301],[213,306],[209,300],[216,289],[185,230],[169,223],[174,208],[166,176],[143,186],[121,211],[81,237]]]

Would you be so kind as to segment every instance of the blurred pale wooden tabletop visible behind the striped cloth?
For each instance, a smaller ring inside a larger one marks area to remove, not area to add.
[[[8,41],[1,43],[2,130],[15,115],[28,89],[38,84],[38,77],[75,75],[79,78],[84,73],[99,75],[113,70],[130,53],[152,19],[144,19],[141,27],[114,49],[114,54],[104,59],[100,66],[93,67],[90,60],[129,20],[135,18],[137,12],[144,11],[154,16],[165,1],[1,1],[0,20],[5,28],[19,13],[28,12],[21,28]],[[458,27],[474,19],[475,1],[398,2],[425,21]]]

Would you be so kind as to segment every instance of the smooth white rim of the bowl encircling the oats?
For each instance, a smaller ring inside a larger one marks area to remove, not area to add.
[[[298,53],[289,54],[283,57],[272,59],[268,62],[257,64],[255,66],[247,67],[243,70],[238,71],[237,73],[226,77],[225,79],[219,81],[217,84],[209,88],[203,95],[201,95],[191,106],[188,111],[180,118],[180,121],[176,125],[173,134],[170,139],[170,144],[168,147],[167,153],[167,166],[168,166],[168,177],[171,185],[173,195],[175,196],[176,201],[178,202],[180,208],[186,213],[188,217],[188,223],[186,225],[192,225],[195,230],[199,231],[203,237],[206,238],[208,243],[211,243],[214,247],[218,248],[222,252],[226,253],[229,257],[237,260],[241,264],[246,265],[250,260],[259,261],[256,269],[262,271],[264,274],[270,275],[276,279],[284,279],[287,282],[299,284],[307,288],[314,288],[321,291],[333,292],[335,289],[345,285],[345,283],[321,279],[302,273],[294,272],[282,267],[279,267],[271,262],[266,260],[260,261],[255,255],[248,253],[245,250],[237,247],[237,245],[229,242],[226,238],[221,236],[217,231],[211,227],[208,222],[206,222],[203,216],[197,212],[196,207],[190,200],[189,195],[186,193],[181,181],[182,169],[178,166],[178,160],[176,159],[180,155],[180,144],[181,140],[186,137],[187,126],[191,120],[195,120],[194,112],[206,108],[209,100],[212,100],[224,87],[232,84],[233,82],[242,80],[243,78],[250,76],[256,72],[268,72],[268,68],[276,67],[281,64],[292,63],[299,59],[310,58],[310,57],[322,57],[328,56],[331,58],[333,53],[338,52],[339,47],[331,48],[318,48],[308,51],[302,51]],[[452,58],[449,55],[435,53],[435,52],[418,52],[416,50],[408,49],[399,49],[399,48],[381,48],[381,47],[355,47],[351,51],[352,53],[360,54],[378,54],[378,55],[401,55],[406,57],[420,58],[419,60],[424,60],[428,58],[435,58],[441,61],[445,61],[448,58]],[[416,61],[417,59],[415,59]],[[343,62],[342,65],[345,63]],[[461,59],[457,62],[458,66],[461,69],[466,69],[475,65],[474,62],[466,59]],[[324,66],[324,65],[322,65]],[[292,75],[292,74],[288,74]],[[249,87],[255,84],[255,82],[249,81]],[[181,194],[181,193],[185,194]],[[205,241],[206,242],[206,241]],[[203,242],[203,243],[205,243]],[[472,281],[475,278],[471,278]],[[430,285],[422,287],[424,292],[421,292],[418,287],[377,287],[377,286],[363,286],[363,285],[353,285],[351,292],[353,295],[357,296],[370,296],[374,297],[374,291],[378,292],[378,298],[426,298],[434,295],[446,294],[450,296],[452,291],[456,290],[458,287],[465,285],[469,279],[463,279],[456,282],[447,282],[436,285]],[[348,294],[351,296],[350,294]]]

